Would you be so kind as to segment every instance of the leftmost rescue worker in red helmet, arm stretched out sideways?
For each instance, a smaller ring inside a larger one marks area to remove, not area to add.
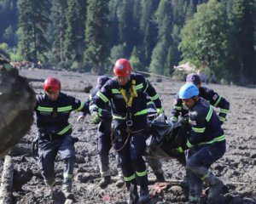
[[[62,192],[66,198],[73,197],[72,177],[75,161],[72,126],[68,119],[71,111],[89,112],[79,99],[61,93],[61,82],[55,77],[44,81],[44,95],[39,95],[35,111],[38,126],[39,168],[44,182],[50,188],[55,184],[55,157],[64,160]]]

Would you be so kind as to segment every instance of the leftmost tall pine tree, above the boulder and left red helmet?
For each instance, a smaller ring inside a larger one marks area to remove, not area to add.
[[[50,20],[49,0],[19,0],[19,50],[27,60],[38,62],[38,54],[41,59],[47,60],[46,52],[49,42],[45,37]]]

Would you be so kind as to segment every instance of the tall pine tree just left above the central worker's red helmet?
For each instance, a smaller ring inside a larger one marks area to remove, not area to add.
[[[85,59],[100,73],[108,57],[108,0],[88,0],[85,23]]]

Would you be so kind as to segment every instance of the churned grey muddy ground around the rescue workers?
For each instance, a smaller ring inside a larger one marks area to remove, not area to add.
[[[42,94],[42,82],[45,77],[59,77],[64,93],[72,94],[79,99],[88,99],[89,94],[84,88],[96,85],[96,76],[67,71],[22,70],[20,75],[31,78],[31,85],[37,94]],[[156,88],[166,115],[170,115],[173,95],[183,82],[173,82],[170,79],[148,78]],[[256,203],[256,89],[236,86],[207,84],[218,94],[230,101],[228,121],[223,125],[227,136],[227,152],[224,157],[212,165],[212,171],[222,178],[227,189],[224,192],[224,203]],[[125,187],[117,188],[113,184],[101,189],[98,186],[100,173],[96,160],[96,125],[90,123],[90,116],[83,122],[76,122],[78,113],[73,113],[70,122],[73,124],[73,136],[79,138],[75,144],[77,159],[73,178],[73,203],[116,203],[125,204],[127,191]],[[14,203],[56,203],[65,202],[61,194],[62,165],[60,157],[56,158],[55,174],[58,181],[55,194],[50,195],[49,189],[38,171],[37,161],[32,158],[31,143],[37,134],[35,122],[29,133],[15,146],[12,156],[15,161]],[[117,174],[113,151],[110,153],[113,176]],[[181,179],[184,169],[177,161],[162,161],[166,178]],[[0,173],[3,161],[0,161]],[[151,169],[149,177],[154,178]],[[186,203],[183,190],[172,186],[163,195],[156,197],[152,203]],[[69,203],[72,203],[71,201]]]

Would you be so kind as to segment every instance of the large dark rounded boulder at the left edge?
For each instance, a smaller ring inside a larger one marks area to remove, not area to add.
[[[0,55],[0,156],[28,132],[34,105],[35,93],[26,79]]]

